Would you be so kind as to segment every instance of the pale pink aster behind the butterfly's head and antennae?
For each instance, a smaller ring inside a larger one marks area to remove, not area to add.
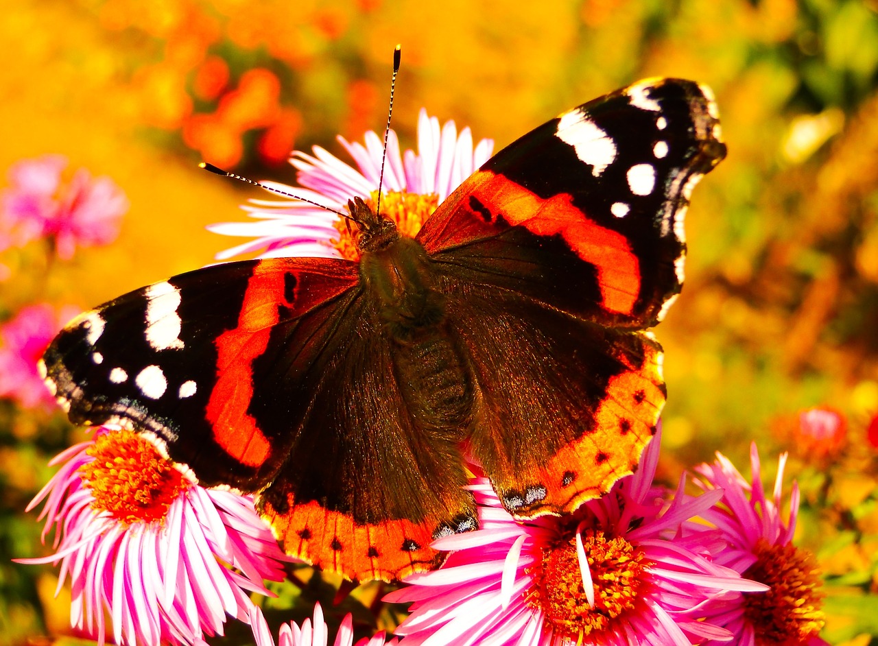
[[[348,200],[356,196],[374,207],[383,139],[370,131],[364,145],[343,137],[338,140],[356,162],[356,169],[315,146],[313,155],[297,151],[291,156],[291,164],[299,171],[299,187],[265,184],[336,212],[347,212]],[[421,110],[417,154],[413,150],[400,153],[396,133],[391,130],[388,134],[381,211],[394,219],[401,231],[414,235],[435,207],[488,160],[492,150],[492,140],[480,140],[473,148],[469,128],[458,134],[453,121],[440,128],[437,118]],[[252,200],[244,209],[258,221],[209,227],[214,233],[255,238],[220,253],[220,260],[257,251],[263,256],[356,257],[356,249],[335,213],[297,199]]]

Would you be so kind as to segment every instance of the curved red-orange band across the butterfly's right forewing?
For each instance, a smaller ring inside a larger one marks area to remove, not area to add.
[[[610,312],[630,314],[640,294],[640,263],[622,233],[600,226],[572,205],[562,193],[543,199],[521,184],[488,170],[473,174],[472,196],[513,225],[526,226],[537,235],[560,234],[582,260],[597,269],[603,298]]]

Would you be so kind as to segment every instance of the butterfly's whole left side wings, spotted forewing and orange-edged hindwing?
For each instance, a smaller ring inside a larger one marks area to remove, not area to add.
[[[425,448],[382,334],[356,263],[278,258],[116,298],[43,361],[74,422],[152,434],[201,485],[259,492],[291,555],[389,580],[475,521],[461,458]]]

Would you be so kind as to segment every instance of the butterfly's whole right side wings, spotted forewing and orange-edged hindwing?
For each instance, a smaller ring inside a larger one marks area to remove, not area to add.
[[[637,83],[501,150],[421,229],[478,384],[471,449],[511,513],[570,512],[636,467],[665,403],[642,330],[680,291],[718,137],[709,90]]]

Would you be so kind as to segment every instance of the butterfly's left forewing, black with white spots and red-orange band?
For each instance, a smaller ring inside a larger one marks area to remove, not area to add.
[[[357,279],[352,262],[290,258],[174,276],[71,321],[43,357],[47,384],[75,423],[133,427],[203,485],[256,491],[285,458],[304,377],[339,342]],[[278,392],[255,365],[280,324],[298,347]]]

